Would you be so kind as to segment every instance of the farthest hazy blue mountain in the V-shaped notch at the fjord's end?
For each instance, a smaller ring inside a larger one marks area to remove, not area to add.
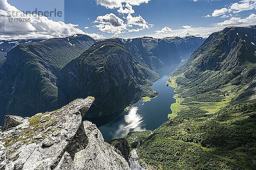
[[[183,59],[189,59],[191,54],[204,42],[204,38],[188,36],[188,37],[166,37],[163,40],[173,42],[177,46]]]

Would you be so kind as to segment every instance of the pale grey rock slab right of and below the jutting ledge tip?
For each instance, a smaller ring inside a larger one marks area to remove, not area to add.
[[[110,144],[104,142],[96,125],[85,121],[83,127],[88,144],[75,154],[75,170],[130,170],[128,162]]]

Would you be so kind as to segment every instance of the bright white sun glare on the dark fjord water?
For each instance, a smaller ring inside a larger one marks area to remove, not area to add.
[[[138,127],[144,120],[142,116],[140,116],[137,111],[139,110],[139,108],[137,106],[132,107],[128,112],[128,115],[125,115],[125,122],[127,123],[127,125],[125,127],[122,127],[122,129],[134,129],[136,127]]]

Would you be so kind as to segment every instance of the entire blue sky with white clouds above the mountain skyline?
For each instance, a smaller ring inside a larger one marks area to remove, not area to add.
[[[35,9],[56,9],[61,15],[27,12]],[[10,18],[30,22],[10,22]],[[249,25],[256,25],[256,0],[0,0],[0,39],[73,34],[95,39],[208,37],[227,26]]]

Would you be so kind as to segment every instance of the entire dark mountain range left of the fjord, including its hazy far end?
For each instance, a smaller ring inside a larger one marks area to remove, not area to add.
[[[190,53],[201,38],[182,40],[184,51]],[[35,41],[39,40],[1,43],[6,52],[16,46],[6,57],[0,54],[0,115],[32,116],[88,95],[96,97],[88,116],[113,113],[142,96],[156,96],[150,88],[158,78],[154,71],[183,59],[178,43],[169,39],[142,37],[96,43],[77,34]]]

